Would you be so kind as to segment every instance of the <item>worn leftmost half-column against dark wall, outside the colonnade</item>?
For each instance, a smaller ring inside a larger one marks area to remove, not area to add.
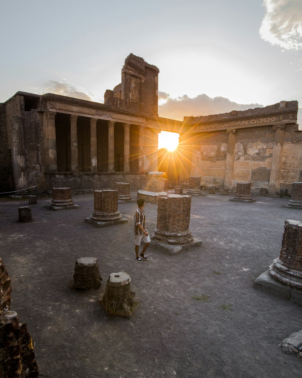
[[[15,190],[27,187],[25,145],[22,117],[12,116]]]

